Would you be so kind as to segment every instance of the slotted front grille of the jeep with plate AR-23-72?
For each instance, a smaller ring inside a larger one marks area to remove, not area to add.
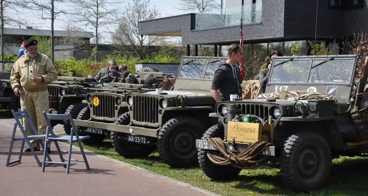
[[[133,120],[142,123],[159,122],[159,99],[133,96]]]

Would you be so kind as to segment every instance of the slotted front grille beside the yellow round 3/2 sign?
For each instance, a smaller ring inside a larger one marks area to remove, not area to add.
[[[98,106],[92,104],[92,116],[102,118],[115,118],[115,96],[104,94],[92,94],[100,101]]]

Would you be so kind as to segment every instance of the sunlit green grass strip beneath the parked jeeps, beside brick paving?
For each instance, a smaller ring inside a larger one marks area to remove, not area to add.
[[[75,146],[78,146],[75,143]],[[198,186],[223,196],[366,196],[368,187],[368,159],[363,157],[341,157],[333,160],[330,179],[325,188],[310,193],[296,193],[283,185],[280,170],[275,168],[258,168],[242,170],[241,174],[228,181],[211,181],[199,167],[174,169],[160,162],[157,152],[146,159],[125,159],[112,148],[110,140],[101,145],[83,145],[92,152],[124,161],[134,166],[165,175],[179,181]]]

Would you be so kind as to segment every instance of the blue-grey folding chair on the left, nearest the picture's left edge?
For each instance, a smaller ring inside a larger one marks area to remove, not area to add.
[[[47,151],[47,150],[45,150],[47,148],[43,146],[43,143],[41,141],[41,139],[46,138],[46,135],[39,135],[38,134],[38,131],[37,131],[35,125],[33,124],[32,119],[29,117],[29,114],[28,114],[26,109],[23,109],[23,111],[21,111],[21,112],[14,112],[14,110],[11,110],[11,113],[13,114],[16,123],[14,123],[14,130],[13,130],[13,135],[12,135],[11,141],[10,141],[10,148],[9,148],[9,153],[8,153],[8,159],[6,161],[6,167],[9,167],[9,165],[11,165],[11,164],[21,163],[21,159],[22,159],[22,155],[23,155],[24,142],[27,142],[29,148],[31,149],[32,155],[35,157],[35,159],[37,161],[38,166],[41,167],[42,163],[38,159],[38,156],[37,156],[35,150],[33,149],[30,140],[38,140],[39,139],[40,144],[43,148],[43,151]],[[25,127],[23,127],[23,125],[22,125],[22,123],[19,119],[22,119],[22,118],[25,118],[25,117],[27,118],[27,121],[26,121]],[[35,135],[27,135],[27,129],[28,129],[29,124],[31,124],[32,130],[34,131]],[[21,132],[23,134],[23,137],[15,138],[15,132],[17,131],[18,126],[19,126],[19,129],[21,130]],[[10,161],[14,141],[22,141],[22,146],[21,146],[21,151],[19,153],[19,158],[17,160]],[[51,160],[49,155],[47,155],[47,159]]]

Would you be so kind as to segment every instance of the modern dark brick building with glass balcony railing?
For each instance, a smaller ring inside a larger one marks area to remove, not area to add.
[[[245,57],[275,49],[291,55],[295,44],[300,55],[308,55],[308,40],[315,39],[333,54],[343,54],[344,40],[354,32],[368,33],[366,0],[222,0],[219,10],[140,21],[138,33],[181,36],[188,54],[190,45],[196,55],[198,45],[214,45],[215,56],[227,56],[227,46],[239,43],[242,15]]]

